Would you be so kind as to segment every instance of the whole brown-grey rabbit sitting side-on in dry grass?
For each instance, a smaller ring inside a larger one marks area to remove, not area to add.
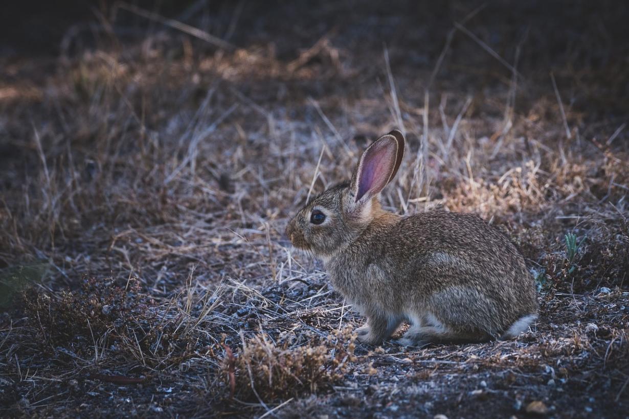
[[[395,177],[404,135],[370,144],[352,180],[329,188],[286,227],[293,246],[323,260],[331,284],[367,317],[357,339],[381,344],[402,322],[404,346],[511,339],[537,318],[523,256],[481,217],[446,211],[398,215],[379,193]]]

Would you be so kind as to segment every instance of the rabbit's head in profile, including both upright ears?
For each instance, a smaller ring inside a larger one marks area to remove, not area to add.
[[[360,236],[384,212],[379,193],[398,172],[404,135],[394,130],[362,153],[350,182],[329,188],[292,218],[286,236],[299,249],[329,257]]]

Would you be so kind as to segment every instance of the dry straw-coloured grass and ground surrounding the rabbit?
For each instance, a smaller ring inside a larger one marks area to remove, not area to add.
[[[629,8],[520,3],[123,4],[0,57],[0,415],[626,417]],[[396,127],[384,205],[503,228],[532,332],[355,345],[291,249]]]

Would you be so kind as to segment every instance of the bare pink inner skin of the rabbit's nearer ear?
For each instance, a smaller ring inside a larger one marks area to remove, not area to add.
[[[358,175],[356,200],[361,199],[367,192],[376,195],[387,185],[395,164],[395,155],[395,144],[391,142],[374,144],[365,152]]]

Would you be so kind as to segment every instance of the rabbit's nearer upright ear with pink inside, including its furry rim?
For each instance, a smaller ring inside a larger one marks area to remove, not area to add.
[[[381,136],[362,153],[352,179],[354,202],[370,199],[386,187],[399,168],[399,153],[398,139],[392,134]]]

